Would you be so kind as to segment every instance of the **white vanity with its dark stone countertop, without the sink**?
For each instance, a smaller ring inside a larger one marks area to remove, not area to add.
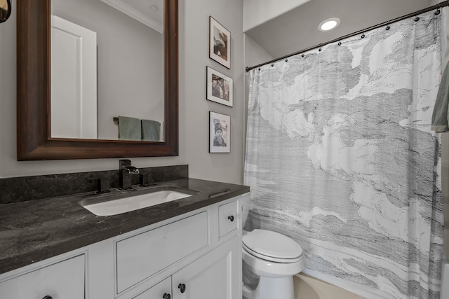
[[[0,206],[1,297],[241,298],[249,188],[177,179],[130,192],[168,187],[194,193],[112,216],[81,206],[93,193]]]

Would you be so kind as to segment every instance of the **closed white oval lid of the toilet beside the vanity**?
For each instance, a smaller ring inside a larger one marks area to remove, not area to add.
[[[302,256],[302,247],[293,239],[271,230],[253,230],[242,238],[243,247],[267,259],[297,259]],[[263,257],[262,257],[263,258]]]

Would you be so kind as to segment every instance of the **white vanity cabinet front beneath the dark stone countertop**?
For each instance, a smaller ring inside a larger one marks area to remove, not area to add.
[[[0,274],[0,298],[240,299],[243,196]]]

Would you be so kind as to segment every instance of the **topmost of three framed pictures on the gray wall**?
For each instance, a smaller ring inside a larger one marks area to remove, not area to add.
[[[209,57],[231,69],[231,32],[209,17]]]

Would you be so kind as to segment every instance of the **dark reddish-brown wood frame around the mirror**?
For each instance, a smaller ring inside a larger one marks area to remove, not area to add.
[[[17,160],[178,155],[177,0],[164,0],[163,142],[51,138],[51,0],[17,1]]]

